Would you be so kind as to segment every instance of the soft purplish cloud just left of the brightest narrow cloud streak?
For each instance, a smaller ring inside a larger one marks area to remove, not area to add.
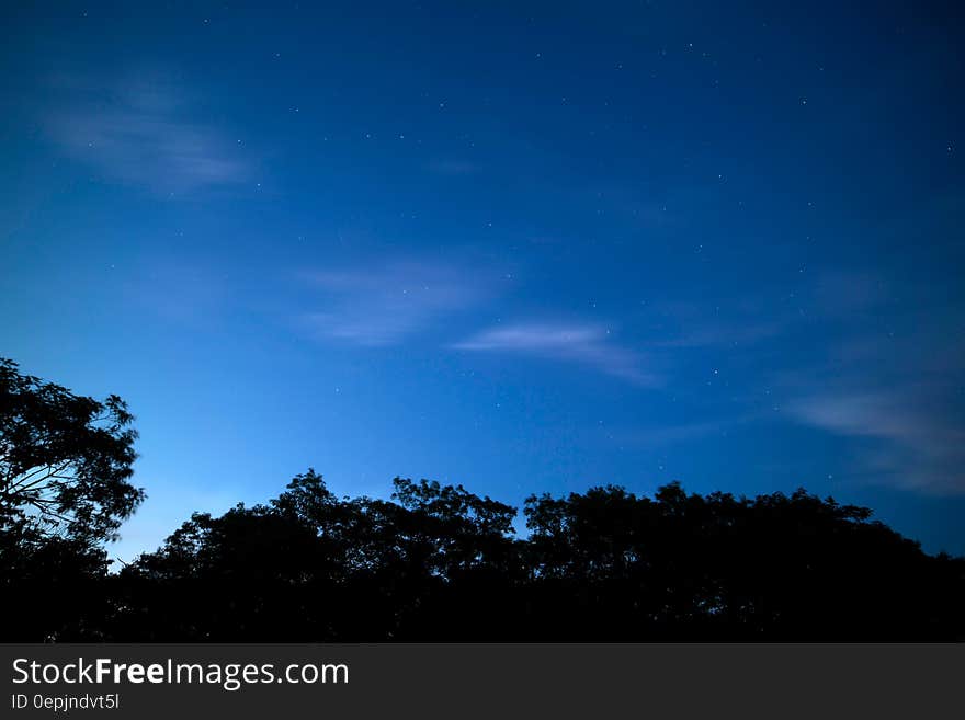
[[[303,324],[321,338],[357,345],[394,345],[452,312],[488,297],[485,272],[402,260],[305,274],[323,294],[322,308]]]

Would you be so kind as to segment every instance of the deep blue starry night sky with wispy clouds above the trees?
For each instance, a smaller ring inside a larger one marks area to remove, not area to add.
[[[4,3],[0,355],[137,416],[112,557],[308,466],[965,553],[962,11],[797,4]]]

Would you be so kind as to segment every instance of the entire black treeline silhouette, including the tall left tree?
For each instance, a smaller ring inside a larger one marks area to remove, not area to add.
[[[2,640],[965,638],[965,559],[803,490],[544,494],[520,537],[516,508],[461,485],[338,498],[309,470],[111,573],[103,540],[143,496],[126,408],[4,368]]]

